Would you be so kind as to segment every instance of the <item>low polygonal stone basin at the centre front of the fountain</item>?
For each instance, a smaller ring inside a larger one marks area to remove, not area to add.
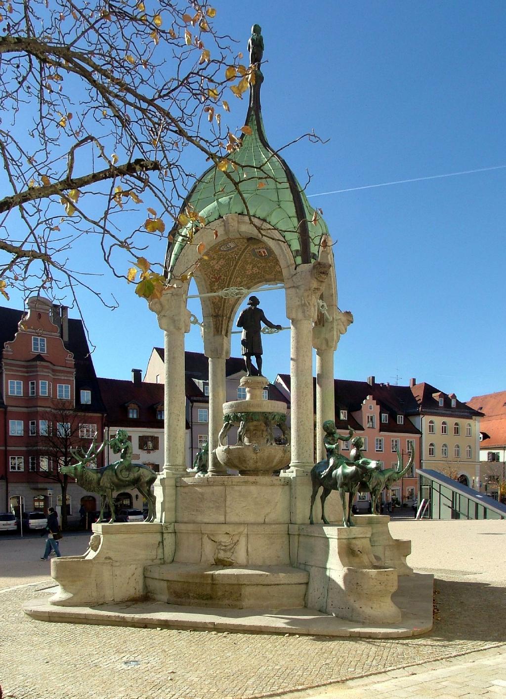
[[[304,606],[309,573],[289,565],[147,565],[149,598],[173,605],[271,610]]]

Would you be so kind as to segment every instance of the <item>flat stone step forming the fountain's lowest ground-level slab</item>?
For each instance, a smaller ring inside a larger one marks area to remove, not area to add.
[[[39,621],[139,628],[191,628],[240,633],[283,633],[333,637],[403,638],[427,633],[432,628],[433,576],[419,573],[400,577],[392,599],[401,610],[398,624],[359,624],[311,609],[226,610],[181,607],[144,601],[57,607],[47,598],[23,606],[25,614]]]

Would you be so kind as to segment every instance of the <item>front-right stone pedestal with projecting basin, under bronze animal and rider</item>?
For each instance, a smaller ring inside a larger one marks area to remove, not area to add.
[[[291,564],[310,576],[307,607],[366,624],[400,621],[397,571],[375,562],[370,527],[292,524],[289,533]]]

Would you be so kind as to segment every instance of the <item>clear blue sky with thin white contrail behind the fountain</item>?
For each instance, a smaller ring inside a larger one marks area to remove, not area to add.
[[[297,143],[284,157],[301,183],[306,168],[312,175],[306,192],[335,241],[338,303],[355,317],[335,353],[335,376],[416,377],[462,400],[505,389],[506,167],[311,196],[506,166],[504,2],[214,4],[216,26],[240,39],[238,50],[261,24],[270,145],[312,129],[329,139]],[[247,102],[229,101],[229,124],[240,126]],[[162,259],[164,247],[150,259]],[[133,287],[107,284],[120,308],[82,296],[82,312],[97,373],[128,378],[163,337]],[[287,324],[282,294],[262,294],[261,305]],[[198,303],[190,308],[201,317]],[[186,347],[202,350],[197,329]],[[288,332],[266,338],[264,351],[270,379],[289,371]]]

